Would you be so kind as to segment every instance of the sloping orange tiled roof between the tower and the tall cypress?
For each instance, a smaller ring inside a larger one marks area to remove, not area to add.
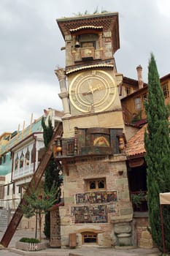
[[[145,124],[136,135],[134,135],[125,146],[125,153],[127,157],[137,157],[138,155],[145,154],[144,148],[144,132],[147,127]]]

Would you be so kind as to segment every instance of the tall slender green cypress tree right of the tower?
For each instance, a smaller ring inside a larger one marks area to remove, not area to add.
[[[165,105],[155,57],[148,67],[148,97],[145,102],[147,130],[144,135],[147,162],[147,203],[150,232],[158,248],[163,250],[159,193],[170,191],[169,108]],[[166,250],[170,249],[169,206],[163,206]]]

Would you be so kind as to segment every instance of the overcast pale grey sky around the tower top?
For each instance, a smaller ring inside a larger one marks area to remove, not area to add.
[[[119,13],[117,72],[147,83],[150,53],[160,77],[169,74],[169,0],[0,0],[0,135],[23,129],[43,110],[63,110],[54,70],[65,67],[56,19],[98,10]]]

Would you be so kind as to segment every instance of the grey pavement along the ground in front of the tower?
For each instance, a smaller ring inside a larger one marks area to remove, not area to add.
[[[15,249],[16,241],[19,241],[22,237],[34,237],[34,231],[30,230],[17,230],[12,240],[9,243],[7,249],[0,249],[0,256],[15,256],[15,255],[29,255],[29,256],[158,256],[160,252],[158,249],[114,249],[104,248],[101,246],[82,246],[81,249],[57,249],[47,248],[38,252],[24,252]],[[4,235],[0,232],[0,240]]]

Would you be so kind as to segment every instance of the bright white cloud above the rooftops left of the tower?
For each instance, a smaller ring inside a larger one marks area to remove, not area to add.
[[[34,118],[43,115],[45,108],[62,110],[62,102],[58,97],[59,87],[49,86],[47,83],[34,83],[26,81],[22,86],[15,85],[0,104],[1,127],[3,132],[13,132],[20,127],[23,121],[26,126],[30,124],[31,113]]]

